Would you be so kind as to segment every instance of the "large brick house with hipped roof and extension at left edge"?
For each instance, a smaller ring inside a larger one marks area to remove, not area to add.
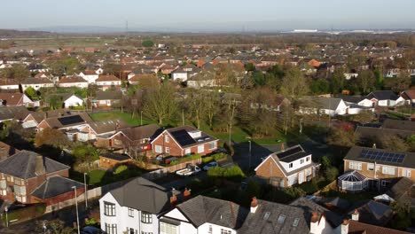
[[[0,199],[48,205],[72,199],[72,186],[76,186],[78,194],[82,194],[84,186],[68,179],[68,175],[67,165],[35,152],[17,152],[0,161]]]

